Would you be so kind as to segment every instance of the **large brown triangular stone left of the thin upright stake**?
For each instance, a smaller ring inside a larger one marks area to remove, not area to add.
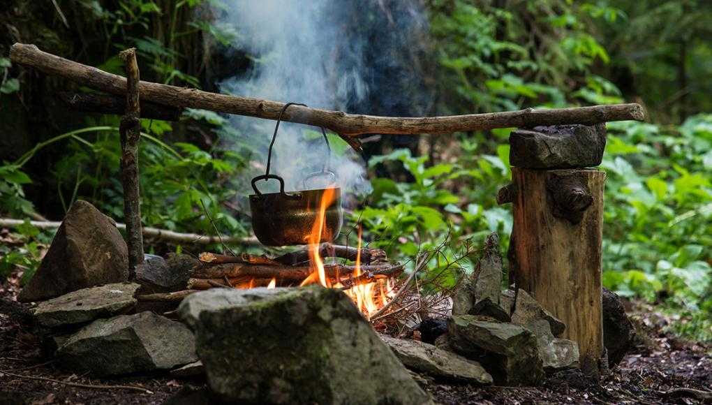
[[[128,252],[116,223],[88,202],[77,200],[17,299],[23,303],[47,300],[128,278]]]

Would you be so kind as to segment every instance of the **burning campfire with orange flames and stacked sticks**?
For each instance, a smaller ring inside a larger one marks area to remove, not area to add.
[[[334,190],[331,187],[323,193],[306,248],[276,258],[202,253],[190,272],[187,292],[320,284],[344,291],[365,317],[375,314],[395,294],[395,278],[403,272],[403,265],[389,262],[382,250],[364,248],[360,227],[356,247],[322,243],[333,238],[324,231],[326,211],[335,202]]]

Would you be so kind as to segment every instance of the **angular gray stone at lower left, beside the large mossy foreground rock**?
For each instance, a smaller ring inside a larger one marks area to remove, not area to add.
[[[140,312],[95,320],[59,347],[61,364],[97,376],[174,369],[198,360],[181,322]]]

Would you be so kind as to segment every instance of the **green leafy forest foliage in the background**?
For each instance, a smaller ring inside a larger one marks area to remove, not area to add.
[[[115,54],[135,46],[143,78],[205,87],[212,80],[211,53],[229,48],[236,35],[235,27],[211,22],[206,6],[219,10],[220,4],[77,0],[63,8],[99,33],[92,41],[103,47],[93,54],[100,68],[120,73]],[[423,6],[438,113],[623,100],[646,105],[651,122],[608,125],[604,285],[663,305],[676,314],[672,327],[711,340],[712,49],[704,39],[712,35],[711,4],[429,0]],[[2,97],[19,97],[26,76],[7,58],[0,58],[0,69]],[[56,191],[64,211],[82,198],[120,221],[117,125],[115,117],[86,118],[84,127],[54,134],[5,161],[0,214],[28,218],[38,201],[26,189],[46,187]],[[225,117],[188,110],[177,125],[143,125],[144,223],[214,233],[204,206],[222,233],[248,235],[246,206],[233,190],[245,182],[241,174],[253,152]],[[495,196],[511,174],[510,131],[427,137],[417,153],[384,147],[368,162],[374,191],[350,221],[362,221],[372,245],[404,260],[441,243],[454,258],[465,243],[478,244],[491,231],[501,234],[506,251],[511,211],[497,206]],[[190,134],[196,133],[209,142],[195,142]],[[51,181],[26,170],[50,146],[62,151],[50,168]],[[392,175],[376,177],[376,169]],[[37,243],[48,236],[29,224],[17,231],[26,243],[0,246],[0,272],[21,265],[28,277],[38,262]],[[441,265],[434,258],[430,268]]]

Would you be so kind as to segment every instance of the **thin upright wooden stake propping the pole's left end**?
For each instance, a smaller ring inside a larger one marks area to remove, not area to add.
[[[127,91],[126,111],[121,118],[121,184],[124,189],[124,216],[129,250],[129,269],[133,277],[136,265],[143,263],[143,235],[141,229],[141,206],[138,182],[138,142],[141,136],[139,106],[139,71],[136,49],[119,53],[124,62]]]

